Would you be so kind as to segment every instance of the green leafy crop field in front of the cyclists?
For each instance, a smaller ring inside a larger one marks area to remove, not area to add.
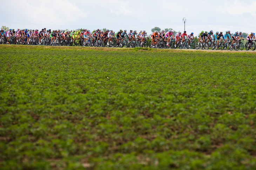
[[[0,45],[0,169],[256,169],[255,80],[255,52]]]

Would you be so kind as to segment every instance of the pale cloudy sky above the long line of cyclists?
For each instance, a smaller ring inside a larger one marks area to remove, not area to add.
[[[118,31],[154,27],[200,31],[256,32],[256,0],[0,0],[0,26],[12,29],[107,28]],[[12,12],[10,12],[12,11]]]

